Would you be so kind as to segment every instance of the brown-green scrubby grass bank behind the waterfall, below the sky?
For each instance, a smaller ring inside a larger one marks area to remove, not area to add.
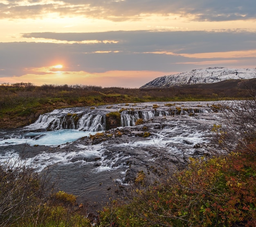
[[[210,101],[248,98],[247,89],[127,89],[84,85],[16,83],[0,85],[0,128],[17,128],[34,122],[42,113],[58,108],[111,105],[115,103]],[[154,108],[154,107],[153,107]],[[156,107],[155,107],[156,108]]]

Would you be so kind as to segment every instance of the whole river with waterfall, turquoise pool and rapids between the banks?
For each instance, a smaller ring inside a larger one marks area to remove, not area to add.
[[[53,178],[60,178],[61,190],[97,207],[112,194],[125,194],[138,171],[155,172],[163,157],[170,165],[184,166],[189,157],[211,156],[211,129],[221,121],[213,104],[145,102],[56,109],[26,127],[0,129],[0,162],[22,154],[25,165],[38,172],[50,170]],[[121,112],[120,126],[106,130],[110,112]],[[139,118],[142,124],[135,125]]]

